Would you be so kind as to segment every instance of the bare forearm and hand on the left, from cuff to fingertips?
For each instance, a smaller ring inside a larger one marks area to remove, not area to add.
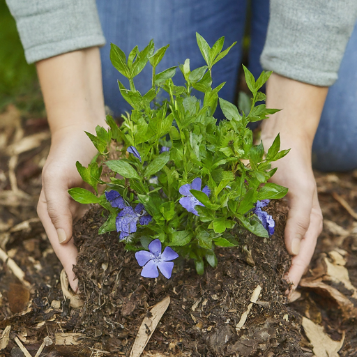
[[[87,166],[96,155],[84,130],[93,133],[97,125],[106,127],[99,49],[90,47],[54,56],[39,61],[36,68],[52,132],[37,211],[70,287],[77,291],[72,225],[85,206],[73,201],[68,189],[84,185],[75,162]]]

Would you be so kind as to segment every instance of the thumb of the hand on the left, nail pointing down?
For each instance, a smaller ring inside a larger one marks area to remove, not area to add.
[[[59,243],[65,244],[72,238],[73,217],[70,211],[68,192],[57,188],[54,192],[46,192],[47,211],[56,229]]]

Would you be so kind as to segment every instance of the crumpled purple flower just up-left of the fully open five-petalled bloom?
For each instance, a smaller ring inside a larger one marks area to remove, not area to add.
[[[135,208],[126,206],[116,216],[116,231],[120,231],[119,239],[127,237],[130,233],[137,231],[137,222],[139,225],[149,225],[153,218],[146,213],[143,204],[137,204]]]

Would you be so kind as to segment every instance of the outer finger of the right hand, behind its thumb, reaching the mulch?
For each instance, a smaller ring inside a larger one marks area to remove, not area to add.
[[[317,238],[322,231],[322,214],[317,198],[317,192],[314,194],[314,201],[310,215],[310,226],[301,241],[301,250],[296,257],[292,259],[291,267],[287,275],[287,280],[293,284],[293,289],[298,286],[301,277],[310,264],[312,255],[317,243]]]

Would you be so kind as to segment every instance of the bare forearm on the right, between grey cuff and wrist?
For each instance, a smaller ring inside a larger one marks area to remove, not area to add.
[[[281,149],[297,144],[311,155],[327,91],[328,87],[297,82],[273,73],[266,88],[266,106],[282,110],[262,124],[264,146],[268,148],[280,132]]]

